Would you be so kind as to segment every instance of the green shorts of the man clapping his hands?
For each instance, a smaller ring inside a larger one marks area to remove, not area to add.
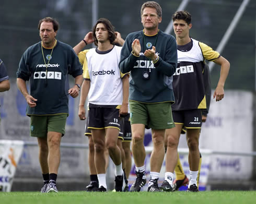
[[[129,101],[130,118],[132,124],[144,124],[146,128],[169,129],[175,127],[171,102],[164,103],[140,103]]]

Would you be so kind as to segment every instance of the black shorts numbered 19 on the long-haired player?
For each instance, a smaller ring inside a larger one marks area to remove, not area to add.
[[[117,128],[120,131],[121,118],[116,107],[89,104],[88,129]]]

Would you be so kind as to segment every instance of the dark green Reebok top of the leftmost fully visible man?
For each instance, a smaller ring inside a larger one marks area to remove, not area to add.
[[[68,74],[77,77],[83,70],[68,44],[57,41],[52,55],[51,52],[52,49],[43,48],[45,64],[39,42],[28,47],[20,59],[17,78],[30,79],[30,95],[37,99],[36,107],[27,105],[27,115],[68,114]]]

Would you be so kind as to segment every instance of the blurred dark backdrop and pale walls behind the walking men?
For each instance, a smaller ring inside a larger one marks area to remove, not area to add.
[[[72,47],[82,40],[100,17],[108,18],[122,38],[142,30],[140,0],[2,0],[0,6],[0,58],[10,77],[11,89],[1,93],[0,139],[36,142],[29,137],[26,101],[16,87],[16,71],[28,46],[40,41],[38,21],[46,16],[59,20],[57,40]],[[159,28],[173,34],[171,15],[180,7],[192,15],[191,38],[219,50],[230,62],[225,98],[212,100],[202,127],[200,148],[214,151],[208,162],[207,189],[256,189],[256,22],[254,0],[156,1],[162,7]],[[231,25],[231,26],[230,26]],[[168,27],[170,26],[170,27]],[[226,35],[225,35],[226,33]],[[224,38],[226,37],[226,38]],[[223,39],[224,38],[224,39]],[[86,49],[90,48],[88,45]],[[206,62],[208,63],[208,62]],[[211,65],[212,89],[220,68]],[[71,79],[71,83],[73,79]],[[63,142],[86,146],[85,123],[77,116],[79,99],[70,98],[69,117]],[[148,134],[150,137],[150,133]],[[150,146],[150,142],[148,143]],[[185,137],[180,148],[186,148]],[[222,152],[231,152],[226,155]],[[247,152],[248,155],[242,155]],[[0,155],[1,156],[1,155]],[[0,160],[1,161],[1,160]],[[1,164],[1,163],[0,163]],[[39,190],[41,171],[38,148],[25,145],[17,165],[13,190]],[[89,181],[86,148],[63,148],[58,175],[60,190],[84,189]],[[66,185],[68,184],[68,185]]]

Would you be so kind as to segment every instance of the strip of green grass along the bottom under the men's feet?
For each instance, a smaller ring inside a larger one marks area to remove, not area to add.
[[[103,204],[250,204],[256,202],[256,191],[204,191],[187,193],[177,191],[174,193],[87,193],[85,191],[62,191],[60,193],[41,194],[35,192],[0,193],[0,203],[19,204],[78,204],[78,203],[103,203]]]

